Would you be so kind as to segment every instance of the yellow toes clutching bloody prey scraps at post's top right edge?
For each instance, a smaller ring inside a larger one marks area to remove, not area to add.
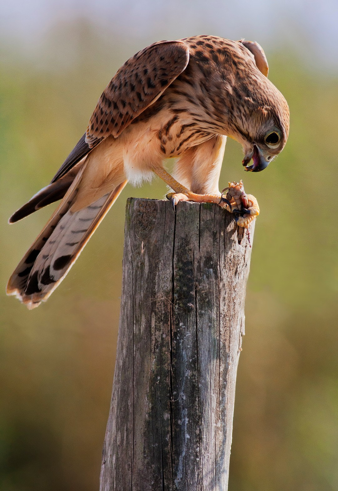
[[[240,181],[239,183],[229,183],[229,187],[223,189],[222,191],[222,199],[224,199],[224,191],[227,191],[226,199],[230,201],[231,206],[237,206],[237,209],[233,209],[232,212],[239,214],[239,216],[236,218],[236,223],[238,226],[238,242],[239,244],[241,244],[241,240],[244,237],[245,229],[248,229],[250,223],[259,215],[259,206],[257,203],[257,199],[255,198],[255,196],[252,196],[252,194],[245,194],[242,181]]]

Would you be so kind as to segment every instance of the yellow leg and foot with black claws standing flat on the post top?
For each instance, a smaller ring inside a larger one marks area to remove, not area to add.
[[[195,203],[216,203],[221,208],[224,208],[231,212],[231,206],[227,199],[221,200],[218,194],[196,194],[190,191],[185,186],[182,186],[179,182],[174,179],[169,172],[167,172],[163,167],[153,169],[155,174],[157,174],[174,192],[167,194],[168,199],[172,200],[173,206],[175,206],[179,201],[194,201]]]

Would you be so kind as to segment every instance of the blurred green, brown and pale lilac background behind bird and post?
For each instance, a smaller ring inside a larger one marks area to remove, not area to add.
[[[17,0],[0,16],[0,490],[98,489],[121,294],[127,187],[48,302],[4,288],[52,206],[7,218],[45,186],[121,64],[159,39],[257,40],[290,105],[265,172],[228,141],[220,185],[260,203],[236,392],[231,491],[338,489],[338,4],[287,0]]]

